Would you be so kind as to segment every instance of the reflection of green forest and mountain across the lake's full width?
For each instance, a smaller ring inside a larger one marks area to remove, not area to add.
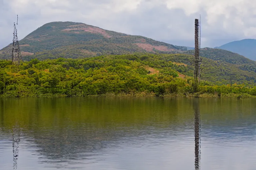
[[[240,135],[255,135],[252,129],[242,129],[255,127],[255,100],[199,101],[201,126],[209,135],[227,135],[239,127]],[[2,132],[8,134],[18,125],[28,148],[36,147],[39,154],[55,162],[79,161],[142,138],[191,136],[195,119],[192,99],[4,99],[0,105]],[[238,134],[238,130],[233,132]]]

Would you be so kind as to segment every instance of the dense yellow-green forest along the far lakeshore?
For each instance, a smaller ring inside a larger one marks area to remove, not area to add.
[[[229,77],[228,71],[225,75],[227,63],[218,66],[220,61],[207,58],[203,58],[202,83],[194,93],[192,59],[186,54],[129,54],[44,61],[32,59],[19,66],[12,65],[9,60],[0,60],[0,97],[256,96],[254,80],[246,80],[241,74],[243,70],[226,68],[239,72],[230,86],[229,80],[225,80],[225,76]]]

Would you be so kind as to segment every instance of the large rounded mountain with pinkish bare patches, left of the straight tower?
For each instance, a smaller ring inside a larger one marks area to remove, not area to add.
[[[22,56],[79,58],[102,54],[133,52],[174,53],[184,46],[158,42],[74,22],[52,22],[36,29],[19,41]],[[12,44],[0,50],[0,59],[11,58]]]

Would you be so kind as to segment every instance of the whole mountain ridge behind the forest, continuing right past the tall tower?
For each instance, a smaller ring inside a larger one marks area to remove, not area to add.
[[[186,76],[193,76],[193,48],[176,46],[164,42],[158,42],[142,36],[131,36],[123,33],[103,30],[98,27],[73,22],[52,22],[43,25],[19,41],[24,60],[33,58],[57,59],[57,58],[83,58],[109,54],[135,54],[155,53],[164,55],[172,53],[172,62],[190,65],[187,72],[174,68]],[[192,50],[187,50],[192,49]],[[11,58],[11,44],[0,50],[0,59]],[[186,55],[190,54],[190,55]],[[186,55],[186,57],[183,57]],[[202,62],[202,79],[218,84],[229,82],[231,75],[237,83],[256,82],[256,61],[252,61],[237,53],[217,49],[202,48],[200,55]],[[161,65],[164,58],[157,60]],[[155,63],[144,63],[153,67]],[[157,64],[156,64],[157,65]]]

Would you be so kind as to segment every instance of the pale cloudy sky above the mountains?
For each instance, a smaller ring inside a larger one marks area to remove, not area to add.
[[[201,14],[201,44],[215,47],[256,39],[255,0],[0,0],[0,48],[54,21],[73,21],[194,46],[194,19]]]

